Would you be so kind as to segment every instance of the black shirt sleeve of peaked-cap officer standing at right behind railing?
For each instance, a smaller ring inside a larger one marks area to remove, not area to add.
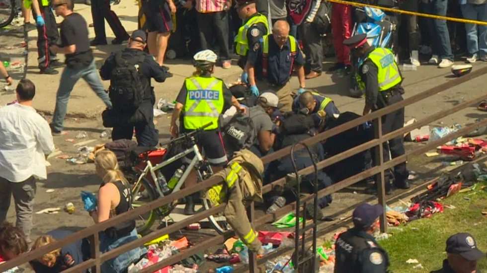
[[[366,56],[374,51],[375,47],[370,47]],[[365,104],[372,109],[376,109],[377,99],[379,96],[379,68],[370,59],[367,59],[359,68],[359,74],[365,83]]]

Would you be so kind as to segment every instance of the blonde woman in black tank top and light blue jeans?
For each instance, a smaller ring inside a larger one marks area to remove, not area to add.
[[[117,157],[112,151],[102,150],[95,157],[96,174],[103,180],[98,190],[96,210],[90,215],[99,223],[130,209],[130,186],[118,168]],[[136,240],[135,220],[129,220],[100,232],[102,253]],[[102,264],[103,273],[126,272],[132,262],[139,260],[147,250],[143,247],[132,249]]]

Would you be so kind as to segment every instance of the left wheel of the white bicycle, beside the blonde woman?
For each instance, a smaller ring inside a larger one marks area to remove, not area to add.
[[[145,177],[142,178],[140,184],[132,188],[131,194],[132,208],[137,208],[156,200],[156,194],[154,192],[154,189]],[[145,214],[139,215],[139,218],[136,219],[137,232],[145,233],[146,231],[148,231],[156,221],[157,217],[158,214],[155,209]]]

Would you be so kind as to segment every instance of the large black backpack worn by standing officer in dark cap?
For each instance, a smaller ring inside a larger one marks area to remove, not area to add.
[[[145,54],[141,52],[129,60],[122,58],[122,54],[123,51],[115,53],[109,97],[114,108],[135,110],[144,99],[146,88],[142,84],[141,70],[138,69],[144,62]]]

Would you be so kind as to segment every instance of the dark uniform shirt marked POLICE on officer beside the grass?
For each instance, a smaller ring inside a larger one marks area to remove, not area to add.
[[[389,267],[387,253],[375,238],[365,231],[351,228],[335,242],[334,273],[386,273]]]

